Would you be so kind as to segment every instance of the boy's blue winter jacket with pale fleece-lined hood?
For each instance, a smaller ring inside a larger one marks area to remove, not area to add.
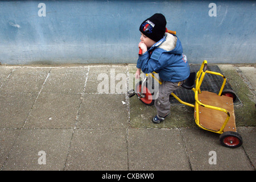
[[[169,33],[139,56],[137,68],[141,68],[143,73],[159,73],[163,81],[172,82],[186,80],[190,73],[180,40]]]

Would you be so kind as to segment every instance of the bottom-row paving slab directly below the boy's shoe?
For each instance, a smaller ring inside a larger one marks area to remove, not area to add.
[[[190,170],[179,129],[129,129],[129,170]]]

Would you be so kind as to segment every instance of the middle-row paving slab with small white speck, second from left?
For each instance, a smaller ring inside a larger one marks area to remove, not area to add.
[[[81,94],[40,93],[24,128],[73,129],[81,99]]]

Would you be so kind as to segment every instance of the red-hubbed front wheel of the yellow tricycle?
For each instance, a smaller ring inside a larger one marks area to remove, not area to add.
[[[155,100],[153,99],[154,92],[152,89],[148,88],[147,83],[143,86],[143,97],[139,95],[139,90],[141,90],[142,81],[139,81],[138,84],[135,86],[135,93],[139,97],[139,100],[143,102],[143,104],[147,106],[152,106],[155,103]]]

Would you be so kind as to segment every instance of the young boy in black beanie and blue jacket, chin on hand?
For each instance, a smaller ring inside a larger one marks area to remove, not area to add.
[[[176,35],[166,33],[166,18],[162,14],[154,14],[144,20],[139,27],[141,42],[139,48],[142,55],[137,61],[135,78],[143,73],[156,72],[162,80],[158,97],[155,100],[157,114],[153,123],[162,122],[169,114],[171,103],[169,96],[188,78],[190,70],[187,57]]]

